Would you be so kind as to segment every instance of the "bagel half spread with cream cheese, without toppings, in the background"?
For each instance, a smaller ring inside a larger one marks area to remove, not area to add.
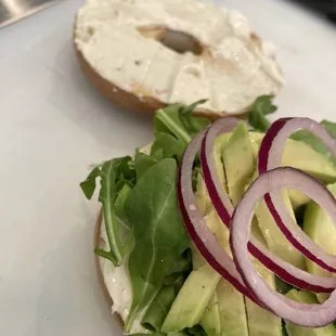
[[[98,91],[146,115],[202,99],[199,115],[242,115],[283,85],[273,52],[243,15],[194,0],[88,0],[74,46]]]

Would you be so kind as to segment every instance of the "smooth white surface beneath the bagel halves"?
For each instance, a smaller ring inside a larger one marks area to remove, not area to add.
[[[131,153],[151,122],[102,99],[79,72],[81,0],[0,30],[0,335],[116,335],[95,279],[91,163]],[[222,1],[279,47],[277,115],[336,120],[336,26],[276,0]]]

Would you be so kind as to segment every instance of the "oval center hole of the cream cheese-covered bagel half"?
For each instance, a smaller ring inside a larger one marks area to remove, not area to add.
[[[195,55],[203,53],[202,44],[190,34],[159,26],[139,27],[138,30],[142,36],[155,39],[177,53],[191,52]]]

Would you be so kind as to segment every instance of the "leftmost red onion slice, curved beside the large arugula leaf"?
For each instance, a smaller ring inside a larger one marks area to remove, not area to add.
[[[207,262],[237,290],[256,301],[250,292],[246,289],[233,260],[207,228],[196,203],[192,186],[192,171],[204,134],[203,131],[191,141],[180,166],[178,198],[183,221],[191,238]]]

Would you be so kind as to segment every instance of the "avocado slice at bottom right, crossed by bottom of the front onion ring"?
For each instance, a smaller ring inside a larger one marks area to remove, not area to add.
[[[319,303],[315,296],[309,292],[299,292],[292,289],[286,294],[292,300],[305,303]],[[335,336],[336,328],[333,324],[320,328],[310,328],[296,325],[292,322],[286,322],[286,329],[289,336]]]

